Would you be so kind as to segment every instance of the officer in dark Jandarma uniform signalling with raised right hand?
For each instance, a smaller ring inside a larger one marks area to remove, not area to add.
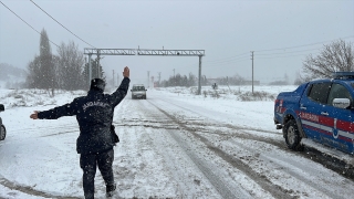
[[[76,116],[80,136],[76,150],[80,154],[80,167],[83,170],[83,189],[86,199],[94,198],[94,178],[98,167],[106,185],[106,196],[115,193],[112,164],[114,160],[111,125],[114,108],[122,102],[129,87],[129,69],[123,71],[123,81],[112,94],[104,94],[106,83],[102,78],[91,81],[86,96],[74,98],[72,103],[43,112],[35,111],[33,119],[56,119],[62,116]]]

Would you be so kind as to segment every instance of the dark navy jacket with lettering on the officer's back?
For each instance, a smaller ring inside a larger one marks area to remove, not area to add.
[[[76,140],[79,154],[93,154],[113,148],[111,135],[114,107],[127,94],[131,80],[124,77],[121,86],[113,94],[103,94],[91,90],[87,96],[74,98],[72,103],[38,113],[39,118],[56,119],[76,115],[80,136]]]

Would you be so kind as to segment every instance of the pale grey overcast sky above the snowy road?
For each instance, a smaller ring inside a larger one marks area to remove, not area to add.
[[[90,48],[30,0],[0,0],[55,44]],[[205,50],[202,75],[291,81],[310,53],[343,39],[354,42],[354,0],[33,0],[65,28],[95,48]],[[40,34],[0,3],[0,63],[27,69],[39,54]],[[51,44],[52,53],[56,46]],[[95,56],[93,56],[95,57]],[[198,75],[198,57],[105,56],[106,75],[131,67],[134,83],[175,73]]]

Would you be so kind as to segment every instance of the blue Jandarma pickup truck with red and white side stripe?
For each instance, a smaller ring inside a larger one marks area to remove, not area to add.
[[[310,81],[293,92],[282,92],[274,102],[274,123],[283,129],[290,149],[301,140],[354,153],[354,72],[337,72],[332,78]]]

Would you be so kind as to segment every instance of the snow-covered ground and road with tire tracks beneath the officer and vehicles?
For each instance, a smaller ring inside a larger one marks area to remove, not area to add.
[[[273,124],[274,97],[295,86],[148,88],[116,107],[114,172],[122,198],[352,198],[354,182],[288,150]],[[0,198],[83,198],[74,117],[32,121],[33,111],[85,91],[0,90]],[[249,101],[242,101],[248,98]],[[331,150],[337,157],[352,156]],[[96,174],[96,198],[104,182]]]

